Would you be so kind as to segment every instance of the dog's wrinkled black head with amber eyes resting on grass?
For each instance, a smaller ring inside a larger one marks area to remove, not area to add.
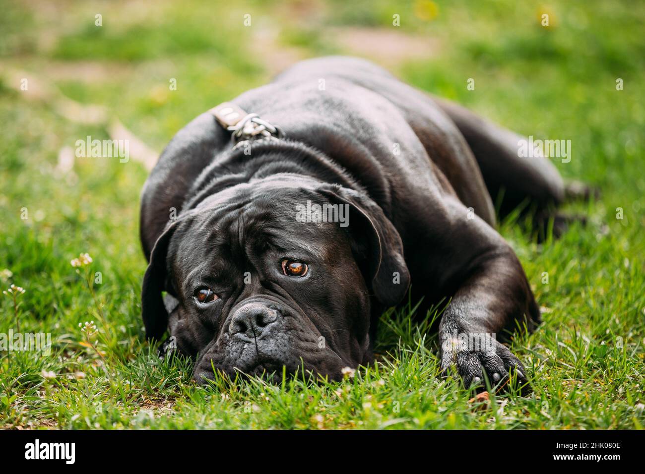
[[[320,206],[320,207],[318,207]],[[332,379],[371,357],[375,311],[409,283],[381,208],[341,186],[273,175],[205,199],[170,222],[143,283],[146,335],[169,323],[194,376],[304,370]]]

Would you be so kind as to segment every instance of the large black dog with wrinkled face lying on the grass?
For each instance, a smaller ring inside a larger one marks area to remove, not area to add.
[[[526,380],[506,346],[462,336],[540,320],[491,196],[502,213],[562,202],[546,158],[362,59],[303,61],[234,103],[177,133],[143,190],[148,338],[170,330],[198,380],[303,364],[336,379],[370,362],[377,319],[413,282],[414,298],[452,298],[442,368]]]

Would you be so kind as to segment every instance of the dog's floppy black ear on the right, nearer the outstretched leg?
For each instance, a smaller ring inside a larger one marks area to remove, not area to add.
[[[410,272],[403,258],[401,235],[381,207],[364,193],[332,186],[321,190],[338,204],[348,204],[348,230],[355,253],[365,271],[365,281],[386,308],[398,304],[410,286]]]

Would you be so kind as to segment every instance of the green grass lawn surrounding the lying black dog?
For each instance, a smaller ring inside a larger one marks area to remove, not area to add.
[[[53,5],[0,1],[0,271],[13,273],[0,283],[26,290],[18,300],[21,329],[52,333],[54,342],[50,356],[0,352],[0,427],[645,425],[644,5],[419,1],[399,8],[379,0],[355,8],[333,1],[304,12],[295,1],[280,8],[192,0]],[[101,28],[94,26],[98,12]],[[550,14],[548,28],[539,24],[542,12]],[[245,13],[252,14],[250,27],[243,26]],[[257,30],[275,32],[272,47],[315,56],[344,52],[324,34],[328,26],[394,28],[395,13],[398,32],[431,35],[440,44],[426,60],[399,63],[396,74],[517,132],[571,139],[573,159],[556,166],[602,189],[599,202],[571,207],[588,215],[588,226],[557,241],[537,245],[512,219],[499,228],[547,310],[541,328],[511,346],[533,393],[491,395],[490,406],[470,402],[473,393],[437,378],[429,324],[435,314],[413,322],[412,308],[384,315],[379,362],[343,382],[218,379],[197,386],[190,361],[160,361],[143,339],[137,222],[145,170],[134,160],[80,158],[72,172],[57,172],[61,149],[86,135],[107,138],[107,130],[67,121],[47,101],[26,101],[7,82],[5,66],[81,103],[106,106],[160,150],[195,115],[268,80],[273,58],[257,51]],[[85,77],[86,68],[101,74]],[[171,77],[178,84],[172,92]],[[622,91],[615,89],[619,77]],[[473,91],[466,90],[468,78],[475,79]],[[616,218],[617,208],[624,219]],[[70,265],[81,252],[94,258],[92,274],[101,272],[98,306],[83,279],[88,270],[79,274]],[[100,355],[83,344],[78,327],[90,320]],[[13,303],[3,297],[0,332],[16,326]],[[43,377],[48,372],[55,378]]]

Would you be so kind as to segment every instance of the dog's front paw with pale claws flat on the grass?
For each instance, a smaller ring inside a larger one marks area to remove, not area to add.
[[[479,344],[478,344],[479,342]],[[522,362],[504,344],[490,338],[474,342],[474,338],[448,338],[441,344],[441,370],[444,375],[457,371],[464,386],[483,386],[484,377],[493,387],[517,384],[522,393],[531,391]]]

